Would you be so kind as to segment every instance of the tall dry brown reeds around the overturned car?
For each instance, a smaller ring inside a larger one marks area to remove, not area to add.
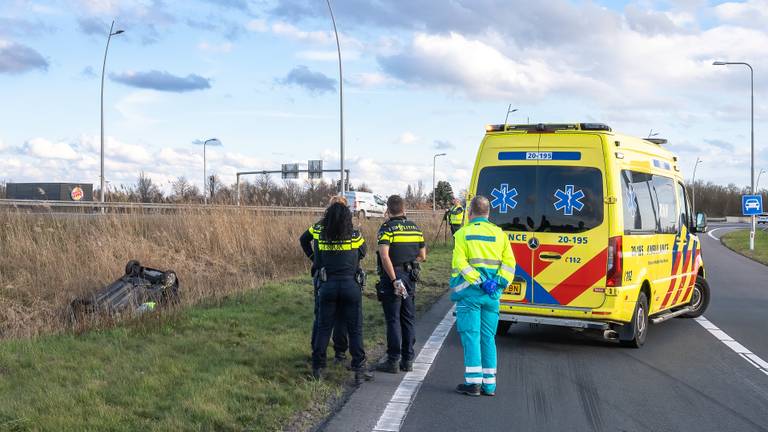
[[[131,259],[173,269],[187,305],[306,271],[309,263],[298,237],[316,218],[239,210],[0,212],[0,338],[66,330],[69,303],[114,281]],[[431,240],[439,217],[419,222]],[[362,223],[370,244],[380,223]]]

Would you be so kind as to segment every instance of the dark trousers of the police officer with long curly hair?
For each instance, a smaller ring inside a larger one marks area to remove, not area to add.
[[[363,348],[363,293],[353,278],[329,280],[320,283],[318,290],[320,310],[317,336],[312,347],[312,367],[326,366],[326,351],[337,313],[349,335],[349,353],[352,355],[352,369],[365,366]]]

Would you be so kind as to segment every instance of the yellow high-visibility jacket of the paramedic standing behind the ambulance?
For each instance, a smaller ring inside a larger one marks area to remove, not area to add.
[[[504,231],[486,218],[472,219],[454,235],[451,300],[486,295],[480,285],[495,279],[499,290],[515,278],[515,256]],[[496,298],[501,292],[496,294]]]

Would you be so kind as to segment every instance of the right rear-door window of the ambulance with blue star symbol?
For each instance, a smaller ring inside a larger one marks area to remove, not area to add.
[[[603,176],[597,168],[541,166],[536,231],[580,233],[603,223]]]

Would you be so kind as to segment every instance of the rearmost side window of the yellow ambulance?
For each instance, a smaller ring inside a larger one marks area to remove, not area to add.
[[[621,196],[624,211],[624,232],[653,234],[657,231],[656,197],[650,174],[623,170]]]

